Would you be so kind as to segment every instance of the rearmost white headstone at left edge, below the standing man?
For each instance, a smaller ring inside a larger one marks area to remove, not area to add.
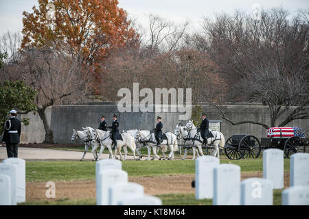
[[[16,167],[16,201],[17,203],[25,202],[25,160],[11,157],[3,160],[3,164],[12,164]]]

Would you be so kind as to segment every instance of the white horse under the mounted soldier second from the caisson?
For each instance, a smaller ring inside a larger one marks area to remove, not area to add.
[[[168,159],[174,159],[174,151],[178,151],[178,142],[176,139],[176,136],[171,132],[165,132],[165,136],[168,138],[168,140],[163,140],[161,142],[161,151],[163,153],[163,159],[165,159],[165,151],[169,147],[170,148],[170,154],[168,155]],[[157,155],[157,141],[155,139],[155,133],[151,132],[149,130],[139,130],[139,141],[145,142],[147,149],[148,149],[148,157],[147,160],[150,159],[150,153],[151,148],[153,151],[153,158],[152,159],[161,159]]]

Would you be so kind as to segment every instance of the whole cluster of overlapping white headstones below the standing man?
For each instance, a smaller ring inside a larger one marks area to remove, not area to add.
[[[0,163],[0,205],[25,202],[25,160],[4,159]]]

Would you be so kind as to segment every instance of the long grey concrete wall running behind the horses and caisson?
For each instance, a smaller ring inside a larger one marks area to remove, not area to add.
[[[223,105],[220,106],[228,118],[233,121],[255,120],[270,124],[268,116],[268,107],[262,105]],[[203,112],[207,114],[209,120],[222,120],[216,115],[213,107],[203,105]],[[31,114],[31,113],[30,113]],[[126,112],[120,113],[117,105],[59,105],[49,109],[51,128],[54,131],[54,142],[69,143],[73,129],[82,130],[82,127],[90,126],[97,128],[100,123],[100,116],[106,116],[106,122],[111,125],[113,114],[117,114],[119,120],[119,130],[128,129],[153,129],[156,124],[157,116],[161,116],[163,122],[163,131],[174,132],[175,126],[187,121],[179,120],[180,113],[158,113],[158,112]],[[182,113],[183,114],[183,113]],[[28,115],[27,115],[28,116]],[[28,116],[29,117],[29,116]],[[308,120],[295,120],[288,126],[297,126],[309,131]],[[266,137],[266,129],[260,125],[242,124],[233,126],[226,120],[222,120],[222,133],[229,138],[233,134],[250,134],[257,138]],[[30,118],[30,126],[23,127],[23,142],[42,142],[45,131],[43,123],[38,115]]]

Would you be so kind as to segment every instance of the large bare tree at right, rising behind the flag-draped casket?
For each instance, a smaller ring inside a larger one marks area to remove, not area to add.
[[[205,19],[210,40],[207,52],[228,83],[230,101],[268,105],[270,124],[234,122],[217,106],[222,118],[233,125],[253,123],[265,128],[284,126],[308,118],[308,17],[288,19],[288,11],[262,11],[260,19],[236,12]]]

